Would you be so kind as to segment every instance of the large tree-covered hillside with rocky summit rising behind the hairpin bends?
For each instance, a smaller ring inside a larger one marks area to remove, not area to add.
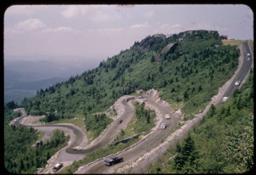
[[[22,105],[31,115],[55,111],[53,120],[78,114],[93,118],[90,114],[106,111],[125,94],[154,88],[165,101],[181,104],[187,120],[203,110],[232,76],[238,56],[239,49],[223,46],[217,31],[148,36],[103,60],[98,68],[41,89]]]

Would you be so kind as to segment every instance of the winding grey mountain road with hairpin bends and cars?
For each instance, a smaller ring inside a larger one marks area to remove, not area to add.
[[[229,96],[234,93],[234,90],[238,88],[238,86],[235,86],[234,83],[236,80],[240,80],[243,82],[247,76],[247,74],[250,71],[251,66],[253,65],[253,57],[252,61],[247,61],[247,53],[250,53],[250,49],[248,46],[248,41],[243,41],[243,54],[244,54],[244,61],[243,66],[241,70],[238,72],[237,76],[234,78],[234,82],[231,83],[228,90],[223,94],[223,96]],[[252,55],[252,53],[251,53]],[[219,105],[221,103],[221,96],[218,99],[218,103],[215,105]],[[125,102],[124,99],[129,98],[129,102]],[[81,160],[83,157],[86,156],[87,153],[91,153],[93,151],[98,150],[99,148],[107,147],[111,141],[113,141],[116,136],[119,134],[121,129],[123,129],[127,123],[131,120],[133,114],[134,114],[134,107],[131,104],[131,101],[134,99],[134,96],[125,96],[125,98],[122,99],[122,105],[124,106],[124,112],[122,116],[119,119],[122,119],[123,122],[121,124],[117,124],[115,121],[110,124],[110,126],[107,128],[107,130],[104,132],[104,134],[98,138],[95,143],[90,144],[86,146],[83,143],[84,139],[84,132],[79,129],[78,127],[74,126],[73,124],[51,124],[48,126],[27,126],[21,124],[21,120],[26,116],[26,113],[22,109],[17,109],[17,111],[22,111],[22,116],[19,120],[14,121],[14,124],[17,126],[23,125],[26,127],[34,127],[35,129],[44,131],[44,140],[49,139],[52,135],[52,131],[55,129],[65,129],[71,134],[71,144],[68,145],[65,149],[62,149],[57,156],[57,159],[55,162],[63,162],[64,166],[67,166],[71,164],[73,161]],[[174,130],[175,127],[178,126],[179,121],[178,118],[173,115],[173,111],[162,104],[156,103],[153,99],[147,98],[148,101],[147,104],[153,106],[155,109],[159,111],[159,113],[162,115],[162,122],[165,122],[167,124],[167,128],[164,130],[157,129],[153,134],[149,135],[145,140],[140,141],[136,146],[128,149],[127,151],[124,151],[122,153],[119,153],[118,156],[122,156],[124,158],[124,162],[115,164],[113,166],[106,166],[103,164],[103,160],[97,161],[89,166],[86,166],[83,169],[79,169],[75,173],[107,173],[112,172],[115,169],[119,168],[120,166],[123,166],[131,161],[136,160],[138,157],[146,154],[147,152],[151,151],[151,149],[157,147],[162,143],[163,140],[165,140],[168,136],[170,136],[171,132]],[[164,118],[165,114],[170,114],[171,119],[166,120]],[[183,137],[183,136],[181,136]],[[179,138],[178,138],[179,139]],[[44,141],[43,140],[43,141]],[[72,148],[75,146],[82,146],[84,149],[82,151],[75,151]],[[157,154],[154,155],[155,157]],[[145,163],[148,161],[148,163]],[[147,169],[147,166],[150,162],[154,162],[154,160],[145,160],[143,164],[140,166],[137,166],[133,168],[133,172],[135,173],[141,173],[143,170]],[[48,168],[52,169],[52,165]]]

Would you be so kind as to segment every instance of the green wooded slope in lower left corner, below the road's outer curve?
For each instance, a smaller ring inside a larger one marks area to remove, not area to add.
[[[4,166],[14,174],[33,174],[38,168],[44,168],[47,160],[65,147],[70,137],[65,136],[63,131],[55,130],[50,140],[38,142],[35,148],[31,147],[42,138],[43,132],[34,128],[10,126],[10,121],[21,116],[21,113],[13,112],[17,107],[18,104],[13,101],[4,105]]]

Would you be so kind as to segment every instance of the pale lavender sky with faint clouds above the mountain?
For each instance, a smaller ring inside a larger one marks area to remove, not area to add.
[[[102,61],[148,35],[217,30],[253,39],[247,5],[13,5],[4,14],[5,55],[74,55]]]

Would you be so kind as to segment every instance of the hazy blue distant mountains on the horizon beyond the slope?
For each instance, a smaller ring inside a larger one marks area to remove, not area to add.
[[[21,102],[48,88],[99,65],[98,59],[78,56],[4,56],[4,102]],[[103,60],[103,59],[102,59]],[[13,96],[15,94],[15,96]],[[20,96],[20,98],[19,98]],[[21,99],[22,98],[22,99]]]

